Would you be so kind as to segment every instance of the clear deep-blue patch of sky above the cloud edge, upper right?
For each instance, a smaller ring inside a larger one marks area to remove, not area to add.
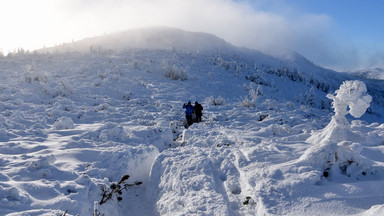
[[[362,46],[381,46],[384,36],[382,0],[291,0],[299,10],[326,14],[335,31]]]

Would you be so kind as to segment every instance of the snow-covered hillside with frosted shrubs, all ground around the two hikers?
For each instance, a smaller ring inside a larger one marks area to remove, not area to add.
[[[165,27],[0,75],[0,215],[384,215],[383,81]]]

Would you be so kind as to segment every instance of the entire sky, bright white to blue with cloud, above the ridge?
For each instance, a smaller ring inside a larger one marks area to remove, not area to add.
[[[0,49],[161,25],[348,71],[384,66],[382,11],[382,0],[0,0]]]

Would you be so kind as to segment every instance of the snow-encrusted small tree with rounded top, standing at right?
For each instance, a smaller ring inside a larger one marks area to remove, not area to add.
[[[335,94],[328,94],[332,99],[335,115],[331,122],[321,131],[312,134],[307,142],[312,144],[300,158],[300,161],[320,166],[324,176],[330,173],[365,175],[366,166],[360,156],[359,140],[348,122],[349,113],[360,118],[370,106],[372,97],[367,94],[367,88],[361,81],[345,81]]]

